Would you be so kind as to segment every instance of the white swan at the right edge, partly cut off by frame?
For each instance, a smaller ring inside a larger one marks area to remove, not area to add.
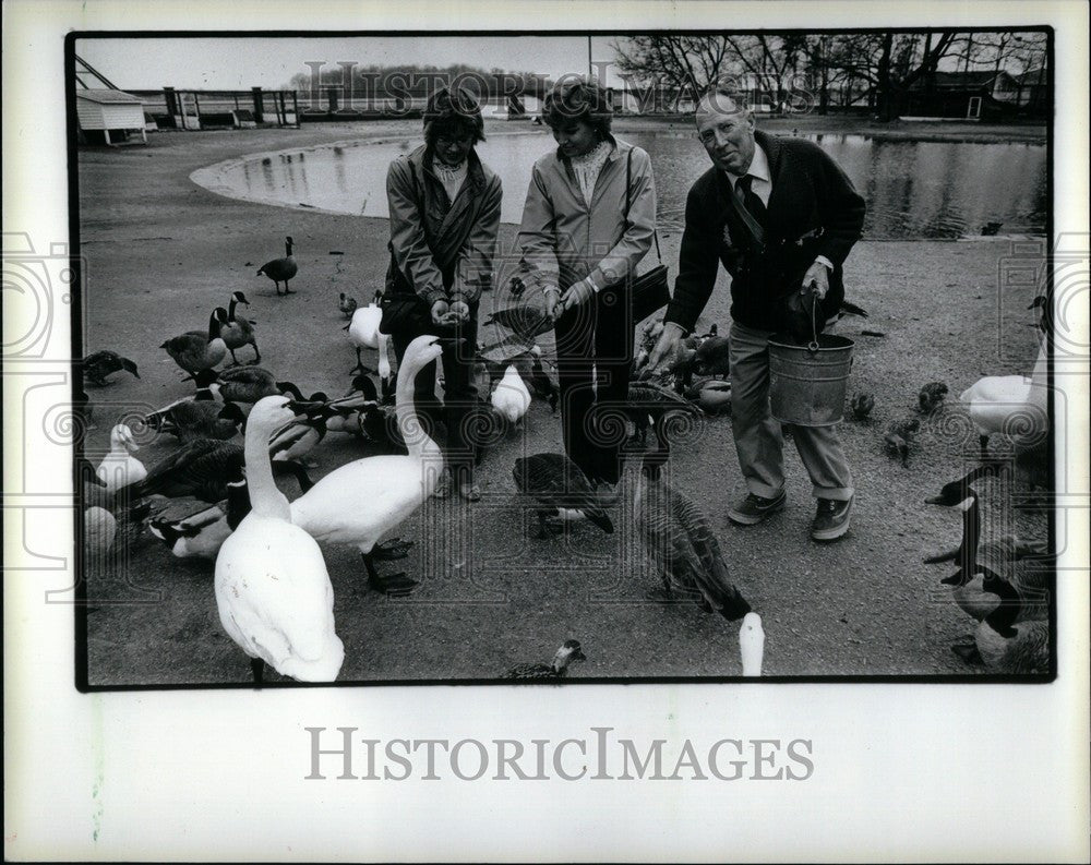
[[[978,430],[981,457],[988,457],[988,440],[1006,433],[1015,444],[1030,444],[1050,432],[1047,340],[1039,346],[1030,376],[990,375],[979,379],[959,395]]]

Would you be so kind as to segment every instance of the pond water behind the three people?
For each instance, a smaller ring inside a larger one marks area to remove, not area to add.
[[[709,166],[704,149],[688,131],[623,137],[651,155],[660,229],[681,229],[686,192]],[[810,137],[838,161],[867,201],[865,238],[954,239],[981,235],[985,225],[996,223],[1002,235],[1045,232],[1044,145]],[[417,145],[391,139],[254,154],[200,169],[192,179],[230,197],[385,217],[386,167]],[[505,223],[519,221],[530,167],[552,146],[548,132],[538,130],[493,133],[478,145],[481,158],[503,180]]]

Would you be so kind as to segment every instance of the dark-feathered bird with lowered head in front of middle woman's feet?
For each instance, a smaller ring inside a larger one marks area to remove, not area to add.
[[[515,486],[535,500],[538,507],[538,537],[546,539],[551,529],[547,519],[586,517],[607,534],[613,533],[613,522],[599,504],[598,495],[587,476],[564,454],[535,454],[515,460],[512,468]]]

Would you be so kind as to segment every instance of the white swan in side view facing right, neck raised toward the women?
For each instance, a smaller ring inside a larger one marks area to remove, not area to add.
[[[356,546],[368,585],[384,594],[401,597],[417,585],[404,573],[380,576],[374,560],[405,557],[405,544],[380,545],[379,539],[408,519],[435,491],[443,454],[417,416],[413,380],[451,341],[425,334],[406,348],[398,369],[395,415],[408,453],[364,457],[334,469],[291,503],[292,524],[312,538]]]

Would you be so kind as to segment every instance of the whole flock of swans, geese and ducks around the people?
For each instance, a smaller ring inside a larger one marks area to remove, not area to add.
[[[285,293],[292,293],[288,281],[298,267],[291,248],[289,237],[286,256],[259,271],[276,284],[278,296],[281,284]],[[512,295],[516,299],[520,295],[518,279],[513,279]],[[395,369],[388,340],[379,329],[379,295],[367,305],[344,293],[338,299],[357,363],[349,373],[349,391],[331,398],[323,392],[304,396],[290,381],[256,365],[261,353],[255,323],[238,311],[249,301],[242,291],[233,292],[226,308],[212,312],[206,329],[187,332],[160,346],[193,382],[195,393],[149,412],[142,422],[158,430],[160,441],[167,434],[177,437],[178,448],[145,467],[135,456],[140,448],[132,430],[119,423],[111,430],[109,452],[84,476],[88,552],[103,556],[112,543],[131,543],[146,529],[175,556],[214,561],[220,624],[251,658],[259,684],[266,666],[303,682],[331,682],[340,671],[345,648],[336,633],[333,588],[320,543],[355,548],[369,587],[379,592],[405,597],[418,585],[404,572],[382,573],[379,563],[407,556],[410,542],[391,536],[441,488],[441,444],[418,417],[413,381],[453,339],[418,337]],[[482,395],[478,410],[489,416],[482,428],[518,429],[536,397],[555,411],[558,385],[536,343],[551,327],[544,313],[516,303],[494,311],[484,324],[500,326],[505,336],[491,346],[477,346],[475,376]],[[632,516],[645,552],[662,577],[662,586],[648,594],[657,600],[688,598],[707,613],[742,620],[743,674],[760,675],[760,616],[731,581],[707,516],[661,471],[676,418],[730,407],[728,340],[715,326],[690,337],[661,374],[649,376],[644,367],[661,326],[648,324],[642,331],[630,403],[624,407],[634,427],[630,444],[643,453]],[[248,346],[254,357],[241,363],[236,352]],[[363,365],[365,349],[377,352],[377,370]],[[228,352],[232,364],[217,370]],[[108,376],[117,372],[139,377],[132,361],[108,350],[84,358],[82,369],[84,381],[98,386],[108,385]],[[372,372],[379,376],[377,385]],[[1008,432],[1004,419],[994,417],[1005,404],[1010,413],[1015,382],[1008,379],[1012,381],[1003,393],[1003,380],[983,380],[962,395],[983,443],[986,435]],[[1022,386],[1023,403],[1039,399],[1033,388],[1040,383]],[[934,410],[944,393],[942,385],[922,391],[922,411]],[[852,411],[854,416],[863,411],[866,418],[874,400],[860,397],[853,399]],[[649,429],[655,434],[650,446]],[[241,445],[232,441],[240,432]],[[332,432],[356,436],[371,453],[312,482],[308,468],[314,464],[309,454]],[[490,442],[497,441],[490,434],[478,446],[479,459]],[[967,509],[963,542],[949,556],[959,561],[959,572],[945,581],[955,586],[960,606],[972,610],[981,623],[974,648],[986,666],[1042,670],[1048,660],[1042,654],[1048,651],[1043,637],[1048,623],[1042,615],[1048,604],[1042,597],[1050,587],[1042,582],[1043,568],[1024,564],[1042,558],[1041,544],[1014,539],[980,542],[976,493],[970,483],[995,471],[995,464],[986,462],[948,484],[951,489],[945,488],[936,500],[949,506],[973,503]],[[516,490],[537,516],[538,537],[563,530],[563,522],[572,519],[613,532],[613,503],[604,501],[563,454],[519,458],[512,473]],[[289,501],[276,484],[277,476],[293,478],[300,494]],[[983,552],[991,564],[982,564]],[[1034,579],[1028,576],[1032,572]],[[987,598],[971,601],[972,594]],[[504,677],[560,678],[572,661],[584,658],[579,642],[570,639],[551,663],[520,664]]]

